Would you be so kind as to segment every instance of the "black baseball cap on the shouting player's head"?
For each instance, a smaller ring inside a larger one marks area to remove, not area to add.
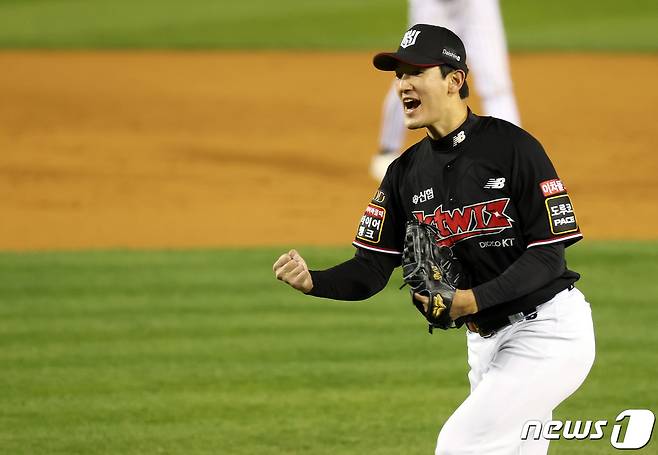
[[[397,52],[381,52],[372,63],[382,71],[395,71],[400,63],[420,67],[446,64],[468,74],[464,43],[454,32],[437,25],[412,26],[402,37]]]

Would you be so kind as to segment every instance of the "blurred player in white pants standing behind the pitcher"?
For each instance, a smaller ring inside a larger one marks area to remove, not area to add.
[[[464,38],[484,114],[520,125],[498,0],[408,0],[408,8],[409,25],[443,25]],[[403,116],[393,84],[384,98],[379,153],[370,162],[378,181],[404,144]]]

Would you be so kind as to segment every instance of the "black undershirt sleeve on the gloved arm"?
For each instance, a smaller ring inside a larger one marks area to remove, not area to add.
[[[565,268],[563,243],[528,248],[501,275],[473,288],[478,309],[530,294],[560,276]]]

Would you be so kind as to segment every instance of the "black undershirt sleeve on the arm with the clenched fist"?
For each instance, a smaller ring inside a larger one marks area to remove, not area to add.
[[[386,286],[400,256],[357,248],[352,259],[327,270],[311,270],[308,295],[334,300],[365,300]]]

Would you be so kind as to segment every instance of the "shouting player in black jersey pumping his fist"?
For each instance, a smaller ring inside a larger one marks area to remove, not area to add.
[[[407,223],[433,226],[470,275],[449,316],[468,328],[471,393],[443,424],[436,454],[546,454],[549,441],[521,439],[524,423],[550,420],[594,361],[590,307],[565,262],[582,237],[567,188],[534,137],[468,108],[466,51],[452,31],[414,25],[373,62],[395,72],[405,125],[427,136],[388,168],[352,259],[310,271],[291,250],[274,273],[309,295],[365,299],[400,265]]]

